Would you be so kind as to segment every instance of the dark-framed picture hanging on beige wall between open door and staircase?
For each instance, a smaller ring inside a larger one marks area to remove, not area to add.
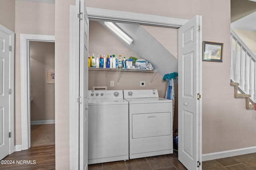
[[[222,62],[223,43],[203,41],[203,61]]]

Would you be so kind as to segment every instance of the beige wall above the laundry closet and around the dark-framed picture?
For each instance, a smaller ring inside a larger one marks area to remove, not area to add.
[[[157,3],[154,0],[108,2],[87,0],[87,2],[88,7],[174,18],[191,19],[195,15],[202,15],[202,40],[224,43],[222,63],[202,63],[202,152],[206,154],[256,146],[255,111],[245,109],[244,99],[234,99],[234,90],[230,86],[230,1],[166,0]],[[209,8],[214,10],[209,12]],[[241,141],[239,134],[244,135],[246,139]]]

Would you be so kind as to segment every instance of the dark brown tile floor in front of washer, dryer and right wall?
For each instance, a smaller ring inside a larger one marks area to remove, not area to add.
[[[91,164],[88,170],[186,170],[178,152],[126,161]],[[202,162],[202,170],[256,170],[256,153]]]

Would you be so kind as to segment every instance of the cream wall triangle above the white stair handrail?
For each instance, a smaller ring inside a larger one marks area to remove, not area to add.
[[[244,41],[249,49],[256,53],[256,31],[249,31],[245,29],[234,29],[236,34]]]

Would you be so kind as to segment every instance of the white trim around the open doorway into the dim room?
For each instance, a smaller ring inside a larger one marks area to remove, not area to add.
[[[20,98],[22,146],[16,150],[26,150],[31,146],[30,136],[30,56],[29,42],[55,42],[54,35],[20,34]]]

